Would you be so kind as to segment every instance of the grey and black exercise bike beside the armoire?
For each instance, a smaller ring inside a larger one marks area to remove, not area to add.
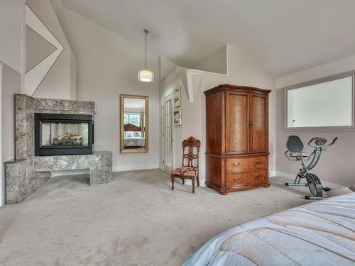
[[[312,196],[305,196],[305,199],[324,199],[323,191],[328,192],[331,189],[329,187],[323,187],[317,175],[312,174],[310,170],[320,161],[322,151],[334,145],[337,139],[338,137],[334,138],[332,143],[326,144],[327,140],[325,138],[312,138],[308,141],[308,146],[315,148],[315,150],[313,150],[312,153],[304,153],[302,140],[300,140],[297,135],[290,135],[286,143],[288,150],[285,151],[285,155],[288,157],[288,160],[300,161],[302,169],[300,169],[293,183],[285,183],[285,185],[288,187],[308,187]],[[305,165],[309,160],[311,160],[310,163]],[[303,178],[305,178],[307,182],[300,184]]]

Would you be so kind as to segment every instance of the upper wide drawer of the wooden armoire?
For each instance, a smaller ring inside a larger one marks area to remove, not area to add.
[[[226,170],[228,172],[264,167],[266,167],[266,156],[230,158],[226,162]]]

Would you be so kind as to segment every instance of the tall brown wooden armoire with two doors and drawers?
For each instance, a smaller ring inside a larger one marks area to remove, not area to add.
[[[219,85],[206,94],[206,184],[226,195],[270,187],[268,94],[254,87]]]

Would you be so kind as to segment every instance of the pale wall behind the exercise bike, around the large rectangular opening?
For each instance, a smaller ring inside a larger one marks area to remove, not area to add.
[[[283,89],[280,89],[352,70],[355,70],[355,55],[313,67],[309,70],[290,74],[276,80],[276,86],[278,88],[276,91],[276,138],[278,140],[276,147],[276,170],[278,172],[297,174],[300,168],[297,162],[290,162],[284,155],[288,135],[299,135],[304,143],[307,143],[310,138],[317,136],[327,138],[328,140],[337,136],[339,138],[337,143],[324,151],[320,162],[312,171],[324,182],[342,184],[344,186],[351,186],[355,183],[355,131],[284,131],[284,92]],[[311,149],[305,144],[305,150],[310,151]]]

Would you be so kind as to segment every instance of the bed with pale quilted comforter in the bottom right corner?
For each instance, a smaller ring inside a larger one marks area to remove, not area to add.
[[[355,193],[315,201],[230,228],[183,264],[355,265]]]

